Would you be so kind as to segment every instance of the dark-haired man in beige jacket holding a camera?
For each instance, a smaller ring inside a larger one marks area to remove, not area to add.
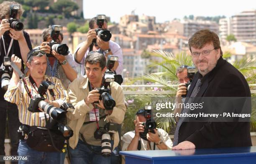
[[[103,157],[104,150],[101,144],[103,140],[99,139],[97,134],[108,122],[117,124],[123,122],[126,110],[123,89],[118,83],[111,82],[108,85],[110,92],[101,92],[102,85],[105,86],[107,81],[106,58],[102,53],[95,51],[88,53],[85,58],[85,67],[86,75],[75,79],[68,88],[69,101],[75,107],[73,113],[67,114],[68,126],[74,131],[74,136],[69,139],[72,148],[70,149],[71,161],[74,164],[81,161],[86,164],[110,164],[111,148],[115,148],[119,142],[118,133],[112,134],[111,140],[114,140],[114,143],[111,144],[108,157]],[[101,88],[95,89],[99,87]],[[111,103],[115,102],[115,107],[106,108],[105,96],[108,100],[112,100]]]

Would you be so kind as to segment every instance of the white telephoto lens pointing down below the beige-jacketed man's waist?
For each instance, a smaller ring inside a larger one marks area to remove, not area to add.
[[[101,139],[101,155],[104,157],[109,157],[111,155],[111,138],[110,134],[105,133],[102,135]]]

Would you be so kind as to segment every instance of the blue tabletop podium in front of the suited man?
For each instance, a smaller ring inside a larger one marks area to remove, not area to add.
[[[125,164],[256,164],[256,146],[190,150],[120,151]]]

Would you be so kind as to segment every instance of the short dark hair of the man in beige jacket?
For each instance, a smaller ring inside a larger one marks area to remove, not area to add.
[[[97,51],[90,51],[85,58],[86,63],[97,64],[100,63],[100,68],[103,69],[106,66],[106,58],[103,53],[99,53]]]

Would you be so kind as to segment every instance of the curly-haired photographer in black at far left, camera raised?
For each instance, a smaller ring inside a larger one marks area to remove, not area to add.
[[[8,115],[8,131],[11,144],[11,155],[17,155],[18,149],[18,109],[13,103],[4,100],[4,94],[8,83],[3,83],[4,73],[10,80],[12,69],[10,66],[3,66],[4,58],[12,54],[22,59],[21,70],[24,69],[24,63],[27,61],[27,54],[32,49],[28,33],[22,30],[23,25],[18,20],[23,14],[22,5],[16,2],[4,1],[0,4],[0,155],[5,155],[5,128]],[[16,21],[14,21],[16,19]],[[11,24],[10,24],[11,23]],[[17,29],[18,25],[18,29]],[[3,71],[5,70],[5,71]],[[6,87],[3,86],[6,84]],[[0,162],[2,163],[2,162]],[[13,163],[13,162],[12,162]],[[15,163],[15,162],[14,162]]]

